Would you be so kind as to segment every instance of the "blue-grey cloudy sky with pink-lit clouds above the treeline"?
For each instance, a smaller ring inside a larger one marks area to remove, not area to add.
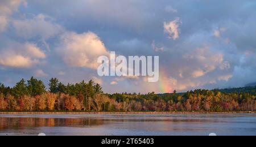
[[[256,1],[0,0],[0,82],[31,76],[104,92],[169,93],[256,81]],[[109,51],[159,56],[159,81],[100,77]]]

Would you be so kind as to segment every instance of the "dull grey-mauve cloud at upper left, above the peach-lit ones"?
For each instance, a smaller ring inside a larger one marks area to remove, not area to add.
[[[23,38],[42,37],[44,40],[64,31],[61,25],[56,24],[54,20],[47,15],[39,14],[32,19],[15,19],[13,26],[17,36]]]

